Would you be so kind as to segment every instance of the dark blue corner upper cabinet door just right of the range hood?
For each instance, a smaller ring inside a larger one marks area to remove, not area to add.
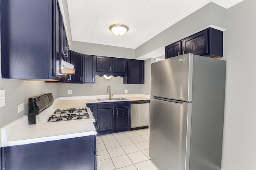
[[[83,68],[83,55],[71,51],[71,64],[75,66],[76,74],[71,74],[71,83],[83,83],[84,68]]]

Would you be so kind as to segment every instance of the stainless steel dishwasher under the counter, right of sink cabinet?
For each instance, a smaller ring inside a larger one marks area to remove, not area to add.
[[[131,101],[131,129],[143,129],[149,126],[149,100]]]

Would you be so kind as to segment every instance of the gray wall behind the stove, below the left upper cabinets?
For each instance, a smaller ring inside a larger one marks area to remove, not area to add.
[[[0,127],[28,115],[28,98],[38,94],[52,93],[58,97],[58,84],[44,81],[0,79],[0,90],[5,90],[5,104],[0,107]],[[18,113],[18,104],[24,103],[24,111]]]

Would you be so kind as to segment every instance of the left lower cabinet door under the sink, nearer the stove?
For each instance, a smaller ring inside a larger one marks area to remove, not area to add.
[[[99,132],[115,129],[114,109],[98,109]]]

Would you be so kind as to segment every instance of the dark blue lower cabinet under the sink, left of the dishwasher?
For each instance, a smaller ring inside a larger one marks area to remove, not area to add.
[[[131,127],[130,101],[99,103],[96,113],[100,135],[128,131]]]

